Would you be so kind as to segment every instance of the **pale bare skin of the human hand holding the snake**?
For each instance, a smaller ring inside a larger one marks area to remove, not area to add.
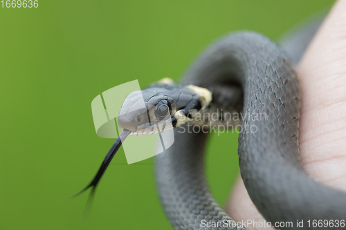
[[[299,129],[304,169],[319,182],[346,191],[346,1],[337,1],[298,66],[302,89]],[[264,218],[241,178],[226,212],[236,221]],[[248,229],[267,229],[254,228]]]

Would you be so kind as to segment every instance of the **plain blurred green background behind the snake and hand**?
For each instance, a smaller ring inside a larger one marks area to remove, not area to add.
[[[0,8],[0,229],[172,229],[153,159],[127,165],[122,149],[89,218],[82,218],[87,194],[69,200],[113,144],[95,134],[91,100],[134,79],[177,80],[231,31],[277,40],[333,2],[39,0],[38,8]],[[224,204],[239,172],[237,135],[212,135],[206,170]]]

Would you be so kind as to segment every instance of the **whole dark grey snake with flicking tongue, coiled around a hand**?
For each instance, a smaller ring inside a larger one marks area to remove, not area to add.
[[[95,178],[80,193],[89,188],[91,194],[95,192],[128,135],[171,129],[174,143],[156,156],[155,172],[158,195],[172,227],[244,229],[217,204],[203,170],[208,130],[224,124],[227,117],[222,111],[228,111],[242,114],[238,122],[240,173],[266,221],[294,223],[280,229],[345,229],[342,224],[333,228],[307,225],[313,220],[345,222],[346,218],[346,194],[312,178],[300,162],[301,100],[295,65],[318,24],[295,33],[284,46],[257,32],[232,32],[206,48],[180,83],[165,79],[129,94],[118,117],[122,132]],[[144,108],[137,108],[140,99]],[[212,113],[217,113],[216,120],[208,116]],[[263,117],[254,119],[253,115]],[[188,125],[202,128],[183,132]],[[226,175],[220,178],[226,180]],[[304,221],[303,228],[296,226],[298,220]],[[203,221],[222,224],[202,226]]]

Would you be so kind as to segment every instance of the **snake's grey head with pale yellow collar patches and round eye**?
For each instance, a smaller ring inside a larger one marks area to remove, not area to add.
[[[118,115],[118,126],[138,136],[167,131],[205,111],[211,100],[206,88],[154,84],[126,97]]]

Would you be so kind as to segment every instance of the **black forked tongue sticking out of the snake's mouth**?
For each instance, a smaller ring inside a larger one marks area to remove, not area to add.
[[[73,195],[72,198],[76,197],[77,195],[80,195],[81,193],[83,193],[84,191],[88,190],[89,188],[91,188],[91,193],[89,195],[89,202],[91,201],[91,199],[93,198],[93,195],[95,193],[95,189],[96,186],[98,185],[98,182],[100,182],[102,175],[104,173],[104,171],[106,171],[109,163],[111,162],[111,160],[113,159],[114,155],[116,155],[116,152],[118,151],[118,149],[120,148],[122,142],[124,142],[125,138],[131,133],[131,131],[128,131],[127,129],[124,129],[123,131],[121,131],[120,135],[118,136],[118,138],[116,139],[116,142],[114,142],[114,144],[111,146],[111,149],[109,149],[106,157],[104,157],[104,160],[100,166],[100,169],[98,169],[98,173],[96,173],[95,177],[93,178],[93,180],[90,182],[90,184],[88,184],[88,186],[86,186],[82,191],[80,191],[79,193]]]

